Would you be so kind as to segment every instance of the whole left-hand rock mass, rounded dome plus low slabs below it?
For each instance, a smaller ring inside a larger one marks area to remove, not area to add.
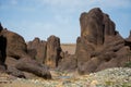
[[[15,74],[14,76],[17,77],[24,77],[22,72],[28,70],[26,72],[33,73],[44,78],[51,78],[49,70],[45,69],[46,65],[40,65],[39,62],[33,60],[27,54],[27,46],[22,36],[2,28],[1,25],[0,30],[0,70],[4,70],[12,75]],[[9,58],[15,60],[7,62]],[[27,66],[23,64],[26,64]],[[35,66],[33,67],[33,65]],[[10,71],[10,69],[15,71]],[[17,71],[21,73],[16,74]]]

